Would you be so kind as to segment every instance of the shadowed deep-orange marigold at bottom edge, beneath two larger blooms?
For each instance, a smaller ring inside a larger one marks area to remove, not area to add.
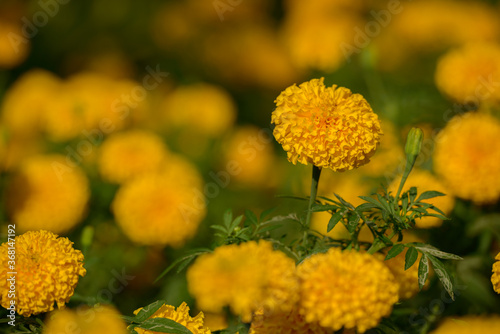
[[[329,334],[330,329],[317,323],[306,322],[296,308],[287,313],[265,315],[262,310],[255,312],[249,334]]]

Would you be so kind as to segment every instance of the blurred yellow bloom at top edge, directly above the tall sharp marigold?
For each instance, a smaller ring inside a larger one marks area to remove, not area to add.
[[[283,37],[300,68],[331,72],[350,56],[356,28],[364,29],[362,1],[287,1]],[[345,50],[343,49],[345,48]]]

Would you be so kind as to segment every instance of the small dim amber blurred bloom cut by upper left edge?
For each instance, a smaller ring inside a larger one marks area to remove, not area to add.
[[[29,46],[19,24],[0,20],[0,69],[21,64],[28,56]]]

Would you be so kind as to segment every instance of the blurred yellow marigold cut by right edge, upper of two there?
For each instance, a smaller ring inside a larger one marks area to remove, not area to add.
[[[442,56],[436,68],[436,85],[460,103],[499,102],[492,84],[500,80],[500,46],[468,44]]]

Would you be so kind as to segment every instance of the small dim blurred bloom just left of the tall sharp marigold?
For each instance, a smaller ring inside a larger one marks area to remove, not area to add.
[[[223,169],[236,181],[250,187],[264,187],[277,179],[270,131],[256,126],[238,127],[225,141]]]

